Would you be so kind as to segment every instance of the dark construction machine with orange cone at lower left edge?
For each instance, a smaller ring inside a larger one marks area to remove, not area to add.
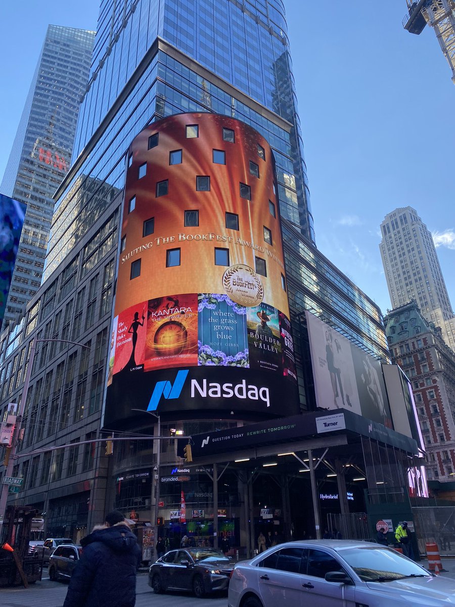
[[[0,586],[25,586],[41,580],[42,559],[29,554],[30,531],[37,514],[32,506],[7,506],[1,526]]]

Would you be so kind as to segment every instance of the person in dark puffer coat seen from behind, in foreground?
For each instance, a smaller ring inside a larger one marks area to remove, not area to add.
[[[81,546],[63,607],[134,607],[142,553],[123,514],[109,512],[106,526],[95,528]]]

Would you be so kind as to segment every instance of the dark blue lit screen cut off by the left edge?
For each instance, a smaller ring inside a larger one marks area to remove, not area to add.
[[[24,203],[0,194],[0,329],[24,225],[25,208]]]

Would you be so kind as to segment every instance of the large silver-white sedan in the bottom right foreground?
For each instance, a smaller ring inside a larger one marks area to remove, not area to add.
[[[228,607],[448,607],[455,581],[363,541],[293,541],[232,571]]]

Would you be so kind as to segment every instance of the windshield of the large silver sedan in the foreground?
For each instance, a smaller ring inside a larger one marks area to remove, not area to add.
[[[389,548],[348,548],[340,550],[340,557],[354,569],[363,582],[391,582],[404,577],[430,574]]]

